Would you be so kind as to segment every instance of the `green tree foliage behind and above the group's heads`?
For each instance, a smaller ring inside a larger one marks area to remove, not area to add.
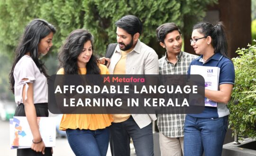
[[[116,42],[114,22],[132,14],[143,22],[140,37],[155,42],[155,29],[175,22],[184,33],[205,16],[207,6],[218,0],[1,0],[0,44],[13,51],[24,27],[33,18],[44,18],[57,28],[54,52],[74,29],[85,28],[95,37],[96,53],[104,54],[109,43]],[[185,19],[189,19],[184,23]]]

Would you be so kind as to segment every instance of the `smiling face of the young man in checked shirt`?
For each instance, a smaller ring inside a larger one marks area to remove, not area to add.
[[[174,30],[166,35],[164,43],[160,42],[160,45],[166,49],[167,53],[177,55],[181,52],[182,36],[178,30]]]

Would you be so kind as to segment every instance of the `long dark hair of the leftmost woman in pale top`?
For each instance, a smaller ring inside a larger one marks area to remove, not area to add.
[[[18,61],[27,53],[30,53],[32,60],[36,63],[40,72],[48,78],[44,62],[39,60],[38,43],[50,33],[56,32],[55,27],[43,19],[32,20],[25,28],[25,31],[15,50],[15,58],[9,74],[10,89],[14,93],[14,76],[13,71]]]

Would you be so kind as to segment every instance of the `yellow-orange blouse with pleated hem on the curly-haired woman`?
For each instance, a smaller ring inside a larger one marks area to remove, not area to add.
[[[99,64],[99,68],[101,74],[109,74],[109,70],[106,66]],[[79,73],[86,74],[86,68],[80,68]],[[57,74],[64,74],[64,69],[59,69]],[[113,118],[111,114],[63,114],[59,129],[104,129],[110,126],[112,121]]]

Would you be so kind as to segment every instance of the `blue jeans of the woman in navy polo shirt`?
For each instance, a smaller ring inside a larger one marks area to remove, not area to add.
[[[184,126],[184,156],[221,156],[227,132],[228,116],[217,119],[186,116]]]

